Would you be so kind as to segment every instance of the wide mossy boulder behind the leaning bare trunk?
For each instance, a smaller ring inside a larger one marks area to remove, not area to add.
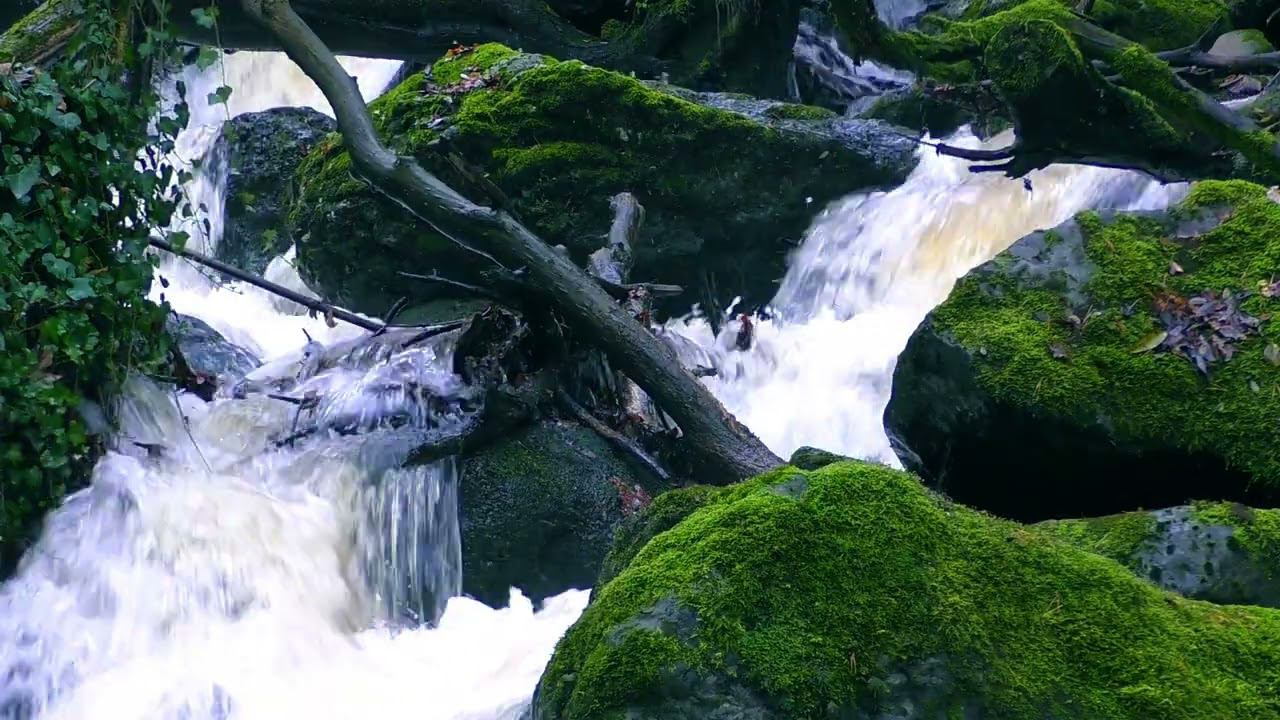
[[[579,259],[599,247],[609,197],[634,192],[645,224],[631,277],[682,284],[680,311],[739,293],[767,301],[818,209],[900,182],[915,163],[914,143],[883,123],[749,99],[726,109],[708,97],[724,96],[485,45],[412,76],[370,111],[396,150],[489,204],[447,156],[483,169],[512,211]],[[378,313],[402,295],[451,292],[401,270],[476,281],[483,259],[370,192],[349,165],[332,138],[298,170],[293,219],[308,284]]]

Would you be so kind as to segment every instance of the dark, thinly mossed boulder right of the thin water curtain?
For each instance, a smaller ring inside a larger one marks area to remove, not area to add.
[[[625,507],[620,489],[667,489],[573,423],[530,425],[462,462],[462,589],[502,607],[589,588]]]

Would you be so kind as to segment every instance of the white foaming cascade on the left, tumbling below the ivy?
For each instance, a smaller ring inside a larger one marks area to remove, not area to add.
[[[398,69],[343,64],[366,96]],[[229,115],[328,111],[276,54],[230,55],[184,82],[188,163],[207,160]],[[225,110],[204,100],[220,85],[234,88]],[[207,208],[187,222],[196,249],[220,238],[225,173],[206,161],[186,188]],[[288,260],[268,273],[303,287]],[[114,450],[0,587],[0,719],[515,719],[588,592],[536,612],[515,589],[502,610],[457,597],[453,462],[403,466],[421,432],[463,416],[439,401],[465,395],[451,341],[360,342],[183,260],[157,274],[169,286],[154,299],[269,360],[247,383],[321,400],[300,413],[131,380]],[[316,342],[300,350],[303,329]],[[300,425],[315,432],[288,442]]]

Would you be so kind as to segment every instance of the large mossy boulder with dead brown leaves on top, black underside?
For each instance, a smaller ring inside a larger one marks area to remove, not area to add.
[[[891,432],[1020,519],[1280,496],[1280,205],[1206,182],[1083,213],[959,282],[893,375]]]

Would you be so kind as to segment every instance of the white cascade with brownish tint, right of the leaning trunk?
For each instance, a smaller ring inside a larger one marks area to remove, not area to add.
[[[947,142],[982,146],[968,131]],[[666,329],[692,341],[681,343],[689,363],[719,368],[705,382],[774,452],[808,445],[897,466],[883,427],[893,366],[959,277],[1080,210],[1157,209],[1185,193],[1103,168],[1052,167],[1029,181],[970,173],[922,147],[902,186],[846,197],[813,223],[749,352],[733,350],[736,322],[718,338],[699,319]]]

